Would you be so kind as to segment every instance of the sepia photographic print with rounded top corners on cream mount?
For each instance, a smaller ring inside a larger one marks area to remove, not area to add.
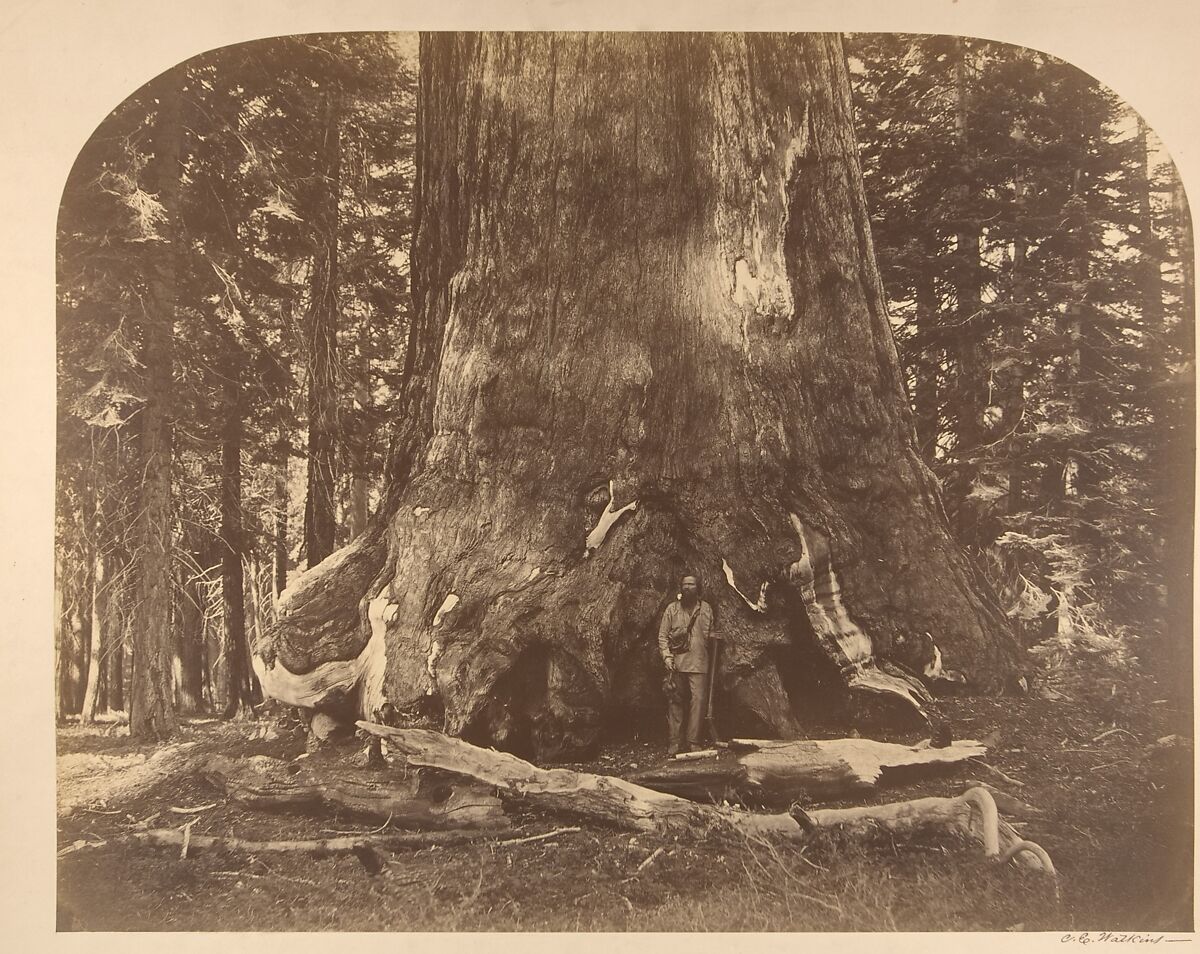
[[[1092,77],[284,36],[58,241],[60,930],[1192,930],[1190,218]]]

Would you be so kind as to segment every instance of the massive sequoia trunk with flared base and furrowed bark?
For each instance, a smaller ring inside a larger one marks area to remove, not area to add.
[[[661,704],[685,568],[734,718],[786,730],[814,643],[910,710],[880,655],[1002,683],[913,445],[838,37],[430,35],[418,128],[388,504],[286,595],[268,692],[577,750]]]

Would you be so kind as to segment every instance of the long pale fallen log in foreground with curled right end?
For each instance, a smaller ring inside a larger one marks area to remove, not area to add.
[[[521,798],[551,811],[583,815],[624,828],[664,830],[691,826],[727,828],[749,836],[804,839],[816,828],[862,830],[874,827],[905,834],[923,827],[948,826],[980,838],[989,858],[1007,860],[1013,857],[1006,857],[1008,851],[1022,852],[1022,858],[1027,858],[1033,850],[1042,852],[1037,846],[1021,847],[1019,835],[1012,828],[1002,827],[996,803],[984,788],[972,788],[956,798],[920,798],[889,805],[762,815],[696,804],[611,775],[538,768],[515,755],[480,749],[427,728],[392,728],[373,722],[358,725],[365,732],[391,742],[410,764],[439,768],[494,785],[502,798]],[[973,814],[980,816],[978,823],[973,822]]]

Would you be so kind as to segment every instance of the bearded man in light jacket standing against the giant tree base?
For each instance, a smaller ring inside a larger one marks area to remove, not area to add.
[[[667,755],[701,748],[708,679],[708,641],[718,638],[713,607],[700,599],[700,581],[684,576],[679,599],[662,611],[659,623],[659,653],[667,667]],[[688,725],[684,734],[684,703]]]

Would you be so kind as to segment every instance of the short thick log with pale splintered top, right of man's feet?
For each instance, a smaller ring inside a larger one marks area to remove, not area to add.
[[[983,743],[971,740],[943,748],[874,739],[743,740],[719,758],[667,762],[634,780],[684,798],[787,804],[800,797],[829,798],[874,788],[886,773],[908,774],[986,752]]]

